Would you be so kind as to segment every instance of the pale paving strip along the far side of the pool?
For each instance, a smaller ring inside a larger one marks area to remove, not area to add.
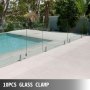
[[[67,33],[63,33],[63,32],[60,32],[60,33],[59,32],[49,32],[49,31],[42,32],[40,30],[22,29],[22,30],[11,31],[9,33],[26,36],[26,31],[27,31],[28,37],[42,38],[43,36],[43,39],[47,39],[47,40],[53,40],[53,41],[67,40]],[[69,33],[68,38],[75,38],[76,36],[81,37],[81,35],[79,34]]]

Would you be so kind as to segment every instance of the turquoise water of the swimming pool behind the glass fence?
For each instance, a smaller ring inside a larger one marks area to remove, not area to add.
[[[49,40],[43,40],[44,43],[49,42]],[[21,35],[14,34],[0,34],[0,54],[17,51],[27,47],[33,47],[40,45],[42,39],[25,37]]]

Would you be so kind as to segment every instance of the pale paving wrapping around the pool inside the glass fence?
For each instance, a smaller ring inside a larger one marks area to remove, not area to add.
[[[8,33],[10,34],[15,34],[15,35],[22,35],[26,36],[26,31],[27,31],[27,36],[32,37],[32,38],[39,38],[44,41],[49,40],[47,43],[40,43],[39,45],[28,47],[27,52],[28,52],[28,57],[31,57],[35,54],[42,53],[45,51],[45,48],[47,47],[47,50],[53,49],[57,46],[61,46],[64,43],[67,43],[67,33],[63,32],[50,32],[50,31],[40,31],[40,30],[31,30],[31,29],[22,29],[22,30],[15,30],[15,31],[10,31]],[[81,38],[80,34],[75,34],[75,33],[69,33],[68,38],[73,41],[76,39]],[[26,39],[26,38],[25,38]],[[4,47],[3,47],[4,48]],[[7,64],[14,63],[17,60],[20,59],[20,55],[23,58],[26,58],[26,48],[23,48],[22,50],[17,50],[13,52],[8,52],[6,54],[0,54],[0,67],[6,66]]]

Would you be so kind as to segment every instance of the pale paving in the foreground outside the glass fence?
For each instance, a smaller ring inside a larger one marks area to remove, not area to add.
[[[90,36],[0,68],[0,79],[90,78]]]

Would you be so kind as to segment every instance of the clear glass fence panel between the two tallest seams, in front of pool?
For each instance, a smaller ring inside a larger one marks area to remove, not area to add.
[[[27,31],[27,54],[28,56],[32,56],[35,54],[42,53],[42,33],[43,33],[43,26],[40,25],[42,23],[37,22],[32,22],[32,27],[29,27]],[[40,25],[40,26],[39,26]],[[47,42],[45,40],[45,42]]]

